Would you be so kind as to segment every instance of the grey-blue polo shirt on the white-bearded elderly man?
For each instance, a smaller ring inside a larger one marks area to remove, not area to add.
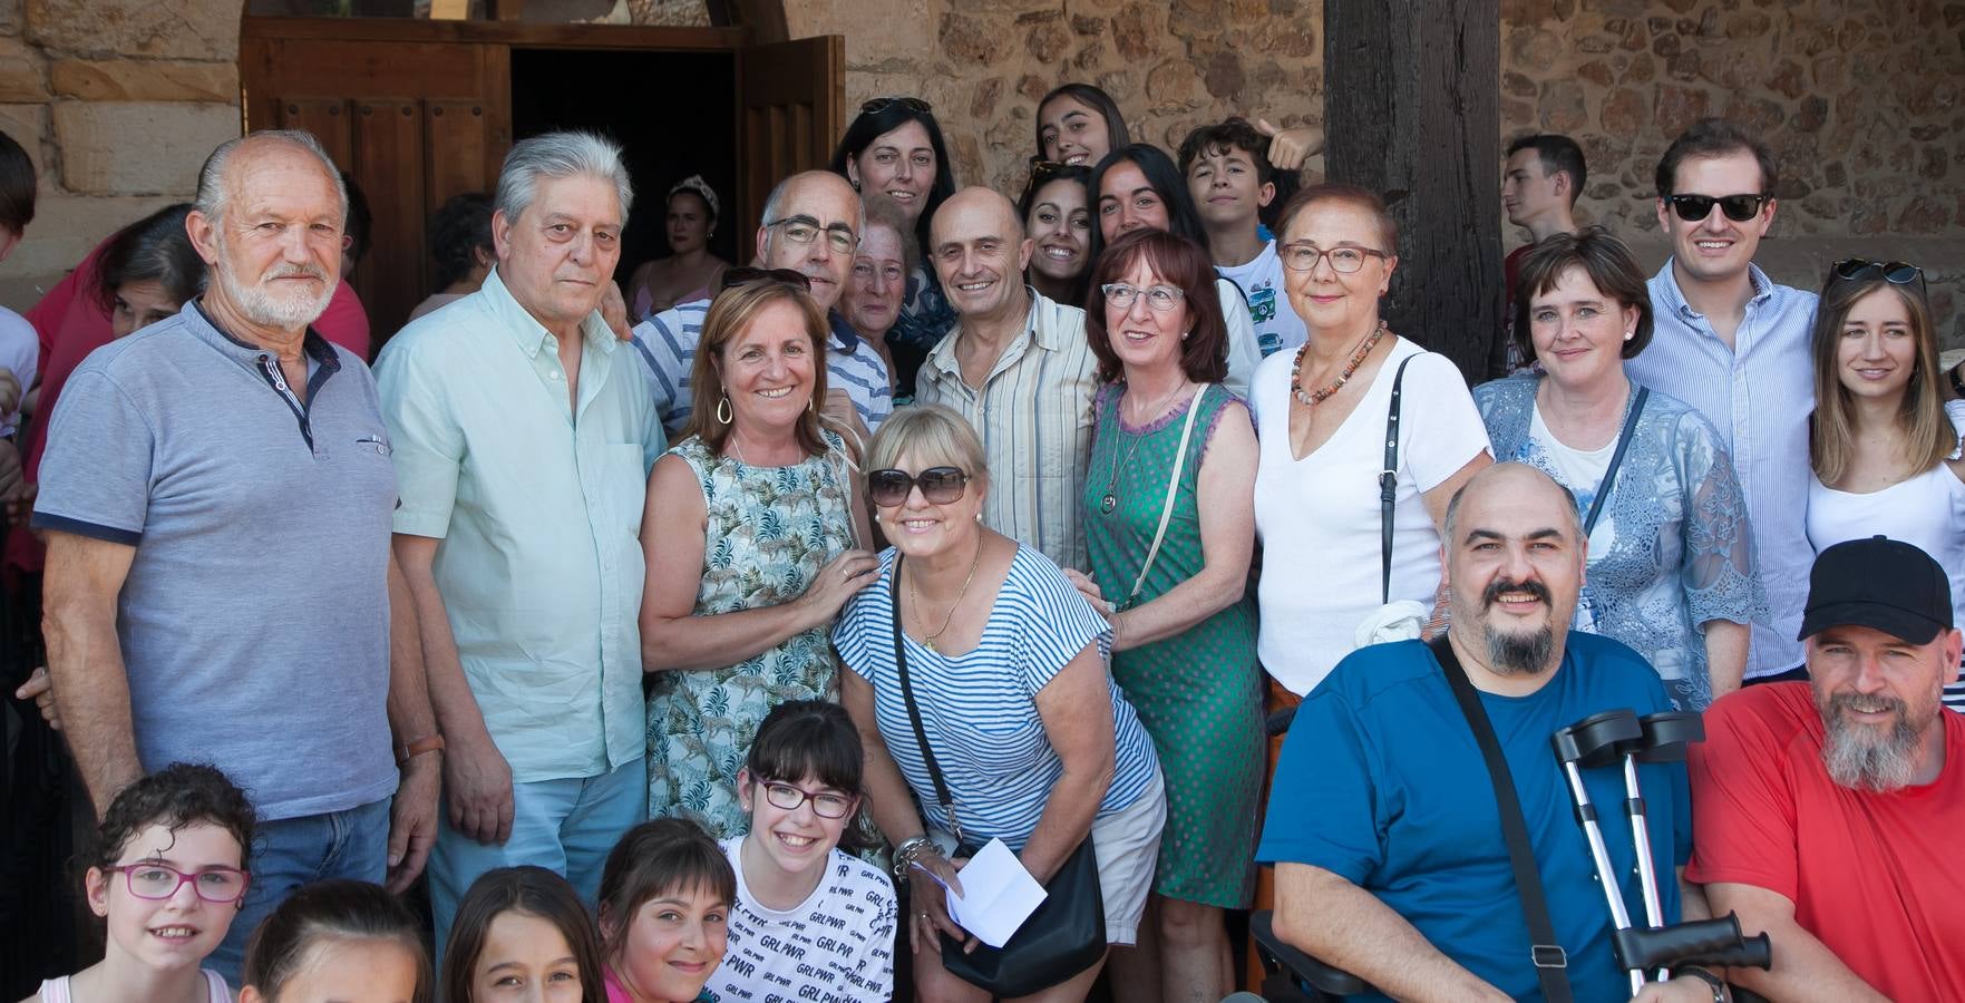
[[[395,791],[375,380],[307,334],[307,405],[196,301],[96,348],[49,425],[33,527],[136,547],[116,633],[145,771],[202,761],[261,818]]]

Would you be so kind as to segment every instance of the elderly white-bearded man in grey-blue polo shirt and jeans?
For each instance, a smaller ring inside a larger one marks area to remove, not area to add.
[[[33,513],[49,675],[96,810],[173,761],[218,765],[259,810],[212,956],[232,979],[293,889],[407,885],[434,838],[442,739],[393,588],[389,431],[362,358],[309,326],[346,201],[305,132],[220,146],[187,220],[206,291],[75,370]]]

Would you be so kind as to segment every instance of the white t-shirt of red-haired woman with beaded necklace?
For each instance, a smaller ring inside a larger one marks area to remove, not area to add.
[[[1399,338],[1344,425],[1301,460],[1289,454],[1295,352],[1277,352],[1256,370],[1250,407],[1262,441],[1256,533],[1263,568],[1256,649],[1262,667],[1295,694],[1311,692],[1350,655],[1358,623],[1379,608],[1377,474],[1391,382],[1407,356],[1419,358],[1405,368],[1399,413],[1391,600],[1431,608],[1440,586],[1440,535],[1421,496],[1488,452],[1488,427],[1460,370]]]

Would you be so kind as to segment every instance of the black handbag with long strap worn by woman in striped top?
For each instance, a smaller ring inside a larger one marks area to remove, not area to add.
[[[955,830],[955,856],[971,857],[981,848],[969,844],[961,820],[955,818],[955,796],[949,795],[949,785],[941,779],[935,751],[927,747],[922,708],[916,706],[914,684],[908,680],[908,653],[900,637],[898,555],[894,557],[894,578],[888,582],[888,598],[894,606],[894,667],[900,673],[900,700],[908,706],[908,724],[914,726],[914,739],[922,745],[927,777],[935,783],[935,800],[947,812],[949,828]],[[955,977],[988,989],[996,997],[1020,997],[1049,989],[1098,964],[1106,952],[1104,895],[1098,889],[1098,854],[1093,850],[1091,836],[1085,836],[1079,848],[1065,857],[1065,865],[1051,875],[1043,891],[1043,905],[1000,948],[979,944],[975,952],[965,954],[961,940],[943,932],[941,966]]]

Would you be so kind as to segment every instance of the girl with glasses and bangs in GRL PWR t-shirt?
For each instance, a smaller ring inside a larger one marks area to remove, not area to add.
[[[798,983],[892,995],[894,883],[839,850],[861,804],[861,757],[859,732],[839,704],[780,704],[757,730],[737,775],[751,832],[723,840],[737,905],[729,950],[709,977],[717,999],[774,999]]]

